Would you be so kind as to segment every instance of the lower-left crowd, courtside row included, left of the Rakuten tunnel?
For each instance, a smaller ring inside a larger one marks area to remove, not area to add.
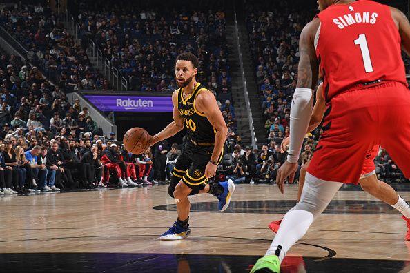
[[[20,65],[1,57],[0,194],[150,184],[79,99]]]

